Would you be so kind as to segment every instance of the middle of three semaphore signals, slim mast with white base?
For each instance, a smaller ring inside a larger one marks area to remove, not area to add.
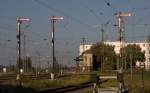
[[[56,57],[55,57],[55,23],[56,20],[63,20],[63,17],[56,17],[56,16],[52,16],[50,17],[51,20],[51,27],[52,27],[52,31],[51,31],[51,35],[52,35],[52,55],[53,55],[53,63],[52,63],[52,73],[51,73],[51,78],[54,79],[54,73],[55,73],[55,64],[56,64]]]

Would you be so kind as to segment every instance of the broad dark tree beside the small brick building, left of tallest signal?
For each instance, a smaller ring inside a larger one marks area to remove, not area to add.
[[[93,45],[90,51],[96,57],[96,61],[93,64],[96,64],[98,68],[101,70],[116,69],[116,54],[114,46],[98,43]],[[96,65],[93,67],[96,67]]]

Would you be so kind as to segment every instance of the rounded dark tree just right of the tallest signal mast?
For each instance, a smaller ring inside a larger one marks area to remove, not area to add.
[[[132,61],[132,65],[135,66],[137,61],[143,62],[145,61],[144,52],[141,51],[140,46],[138,45],[127,45],[124,47],[125,55],[126,55],[126,65],[127,68],[130,67],[130,62]]]

